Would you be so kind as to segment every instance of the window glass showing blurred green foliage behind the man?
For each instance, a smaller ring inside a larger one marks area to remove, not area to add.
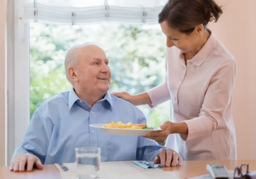
[[[144,92],[163,82],[165,37],[158,24],[97,23],[91,25],[48,25],[30,23],[30,117],[35,109],[59,92],[70,90],[64,57],[76,44],[94,42],[110,59],[110,92]],[[157,108],[139,106],[148,124],[159,126],[169,120],[169,102]]]

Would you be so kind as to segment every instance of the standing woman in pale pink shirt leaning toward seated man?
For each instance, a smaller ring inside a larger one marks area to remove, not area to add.
[[[236,62],[207,28],[222,13],[213,0],[169,0],[158,16],[168,47],[166,81],[138,95],[113,93],[151,108],[171,99],[173,121],[145,137],[164,140],[171,134],[166,146],[176,147],[185,160],[237,159],[232,117]]]

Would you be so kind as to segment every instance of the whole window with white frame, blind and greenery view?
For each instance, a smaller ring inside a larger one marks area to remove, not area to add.
[[[111,60],[111,92],[137,94],[163,81],[166,46],[157,15],[166,1],[10,0],[7,161],[35,109],[70,90],[63,64],[71,46],[102,46]],[[139,108],[150,125],[169,119],[169,102]]]

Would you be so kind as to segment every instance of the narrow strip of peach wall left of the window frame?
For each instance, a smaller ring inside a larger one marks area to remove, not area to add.
[[[6,3],[0,1],[0,166],[5,165],[5,33]]]

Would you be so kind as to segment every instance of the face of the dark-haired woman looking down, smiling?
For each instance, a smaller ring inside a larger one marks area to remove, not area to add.
[[[176,46],[180,49],[180,52],[186,53],[189,51],[193,51],[200,44],[200,39],[202,33],[198,32],[195,28],[194,32],[187,35],[185,33],[181,33],[177,29],[172,29],[166,21],[160,23],[162,32],[166,35],[166,46],[172,47]]]

